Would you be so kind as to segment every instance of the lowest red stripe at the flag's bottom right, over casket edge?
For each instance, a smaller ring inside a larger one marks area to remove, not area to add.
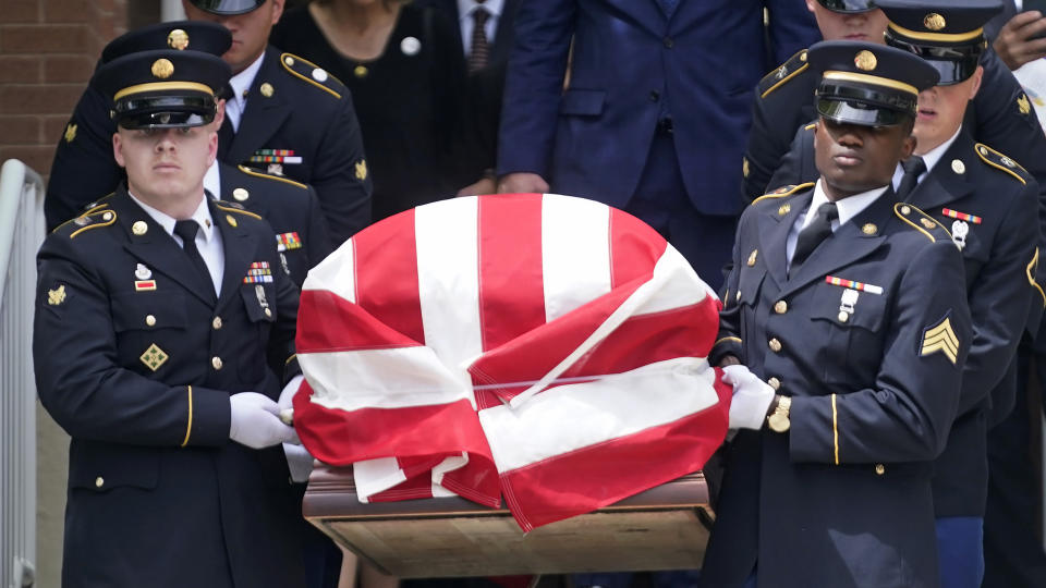
[[[716,372],[720,402],[710,408],[503,473],[504,500],[523,531],[613,504],[701,469],[727,434],[732,389]]]

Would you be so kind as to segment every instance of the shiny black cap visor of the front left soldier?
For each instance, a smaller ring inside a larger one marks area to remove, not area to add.
[[[124,128],[203,126],[215,120],[211,96],[129,96],[117,101],[113,121]]]

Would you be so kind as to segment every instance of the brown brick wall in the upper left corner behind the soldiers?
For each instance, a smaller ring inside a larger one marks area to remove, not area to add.
[[[0,161],[46,175],[54,145],[106,42],[126,30],[129,0],[0,2]]]

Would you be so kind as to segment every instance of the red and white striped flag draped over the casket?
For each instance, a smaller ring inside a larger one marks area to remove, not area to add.
[[[302,291],[295,427],[361,500],[460,495],[524,530],[700,469],[720,304],[649,226],[558,195],[455,198],[356,234]]]

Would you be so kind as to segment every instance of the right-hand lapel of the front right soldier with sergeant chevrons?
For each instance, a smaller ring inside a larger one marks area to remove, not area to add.
[[[877,249],[883,244],[883,228],[893,216],[895,201],[897,198],[893,189],[887,188],[860,215],[837,229],[791,275],[781,289],[780,297],[783,298],[810,282],[820,280]],[[864,229],[866,225],[869,229],[867,232]],[[871,231],[872,228],[874,231]]]

